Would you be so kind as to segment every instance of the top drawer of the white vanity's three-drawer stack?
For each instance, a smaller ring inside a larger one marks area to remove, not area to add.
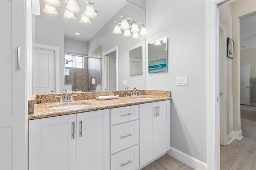
[[[139,119],[139,105],[110,109],[110,125]]]

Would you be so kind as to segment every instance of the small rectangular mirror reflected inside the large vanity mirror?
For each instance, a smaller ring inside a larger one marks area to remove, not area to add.
[[[130,50],[130,75],[142,74],[142,46]]]

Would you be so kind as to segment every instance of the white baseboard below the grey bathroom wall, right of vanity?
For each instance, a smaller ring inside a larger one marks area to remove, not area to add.
[[[193,158],[192,156],[189,156],[188,154],[185,154],[175,148],[170,147],[170,150],[168,150],[166,152],[166,154],[174,157],[175,159],[190,166],[191,168],[194,168],[195,170],[206,170],[207,169],[206,163],[204,163],[196,158]]]

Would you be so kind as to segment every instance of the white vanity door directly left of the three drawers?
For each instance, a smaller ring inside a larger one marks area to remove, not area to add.
[[[109,109],[77,114],[77,169],[110,168]]]

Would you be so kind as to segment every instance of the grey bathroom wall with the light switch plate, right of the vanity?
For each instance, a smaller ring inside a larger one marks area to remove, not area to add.
[[[206,14],[206,1],[146,2],[146,42],[169,39],[168,73],[147,74],[146,89],[172,91],[171,146],[205,163]],[[177,86],[183,76],[188,86]]]

